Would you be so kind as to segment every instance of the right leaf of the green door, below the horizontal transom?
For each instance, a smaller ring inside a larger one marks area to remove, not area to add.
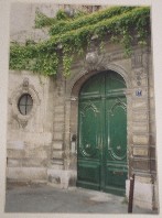
[[[125,96],[106,100],[106,189],[116,193],[114,189],[117,188],[117,193],[119,193],[119,188],[125,189],[127,179],[127,109]]]

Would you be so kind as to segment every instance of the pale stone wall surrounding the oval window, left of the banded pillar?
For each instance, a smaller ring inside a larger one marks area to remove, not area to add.
[[[28,80],[28,87],[24,81]],[[33,109],[20,115],[18,101],[30,92]],[[8,178],[46,181],[53,140],[53,80],[29,72],[10,72],[8,117]]]

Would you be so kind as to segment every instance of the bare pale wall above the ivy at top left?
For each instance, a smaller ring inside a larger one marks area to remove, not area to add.
[[[35,29],[36,11],[53,18],[58,9],[58,4],[50,3],[12,3],[10,14],[11,41],[25,43],[28,40],[39,42],[48,39],[47,29]]]

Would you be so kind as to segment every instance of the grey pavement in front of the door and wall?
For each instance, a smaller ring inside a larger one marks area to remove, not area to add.
[[[6,212],[127,214],[125,197],[84,188],[58,189],[45,184],[9,184]],[[156,214],[133,207],[133,214]]]

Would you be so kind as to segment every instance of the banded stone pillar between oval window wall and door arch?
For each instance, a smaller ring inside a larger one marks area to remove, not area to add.
[[[65,79],[58,75],[54,86],[53,142],[47,174],[50,182],[62,186],[64,177]]]

